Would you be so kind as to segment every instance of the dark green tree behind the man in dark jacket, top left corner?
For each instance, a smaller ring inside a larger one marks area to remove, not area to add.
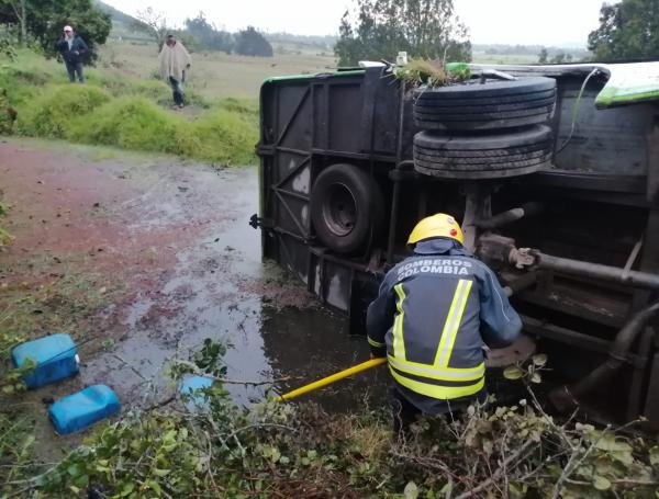
[[[47,56],[57,54],[56,42],[69,24],[87,42],[93,60],[94,47],[105,43],[112,27],[110,16],[92,0],[0,0],[0,16],[19,25],[23,42],[33,36]]]

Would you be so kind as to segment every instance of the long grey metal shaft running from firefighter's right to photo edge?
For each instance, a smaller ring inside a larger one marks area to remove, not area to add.
[[[602,265],[600,263],[590,263],[569,258],[551,257],[541,252],[534,254],[537,258],[537,263],[540,269],[659,291],[659,275],[657,274],[637,271],[625,272],[624,269],[617,266]]]

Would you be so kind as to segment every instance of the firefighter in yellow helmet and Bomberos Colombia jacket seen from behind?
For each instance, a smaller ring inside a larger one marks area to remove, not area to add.
[[[414,254],[384,276],[368,307],[371,354],[387,356],[393,377],[394,431],[421,415],[484,404],[483,344],[504,348],[522,330],[494,273],[462,246],[454,217],[421,220]]]

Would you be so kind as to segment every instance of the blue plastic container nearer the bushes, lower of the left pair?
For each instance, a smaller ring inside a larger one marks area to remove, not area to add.
[[[109,386],[93,385],[57,400],[51,406],[48,416],[57,433],[66,435],[85,430],[120,410],[119,398]]]

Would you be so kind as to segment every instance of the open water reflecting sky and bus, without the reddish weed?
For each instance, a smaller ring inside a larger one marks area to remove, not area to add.
[[[157,294],[130,306],[127,339],[90,360],[83,383],[109,384],[127,405],[139,402],[145,379],[163,386],[168,361],[199,350],[206,338],[232,345],[225,356],[228,378],[294,378],[275,387],[280,392],[368,359],[366,341],[348,338],[344,317],[319,308],[302,284],[261,261],[260,231],[247,224],[258,207],[257,170],[210,172],[205,180],[217,196],[232,193],[231,203],[219,201],[222,220],[209,224],[200,240],[179,253],[174,274]],[[179,207],[168,209],[180,219]],[[278,308],[278,298],[289,292],[305,299],[300,307]],[[371,377],[347,381],[315,398],[331,410],[356,407],[372,386]],[[248,404],[266,388],[227,389],[237,402]]]

